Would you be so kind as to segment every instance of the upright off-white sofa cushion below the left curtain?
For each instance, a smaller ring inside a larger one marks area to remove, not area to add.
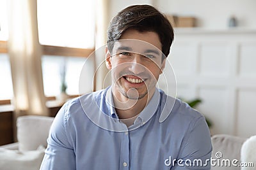
[[[49,130],[54,118],[44,116],[24,116],[17,118],[17,139],[19,150],[36,150],[47,146]]]

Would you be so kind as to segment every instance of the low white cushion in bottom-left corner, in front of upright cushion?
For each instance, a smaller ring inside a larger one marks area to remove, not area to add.
[[[0,148],[0,169],[4,170],[38,170],[44,158],[44,146],[37,150],[20,152]]]

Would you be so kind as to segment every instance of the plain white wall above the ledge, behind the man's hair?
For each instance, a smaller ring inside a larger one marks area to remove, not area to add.
[[[255,0],[109,0],[109,20],[132,4],[151,4],[167,14],[192,15],[198,27],[226,29],[228,18],[236,15],[239,27],[256,29]]]

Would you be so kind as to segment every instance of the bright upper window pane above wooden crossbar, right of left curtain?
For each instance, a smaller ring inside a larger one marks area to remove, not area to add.
[[[95,1],[38,0],[38,34],[42,45],[93,48]]]

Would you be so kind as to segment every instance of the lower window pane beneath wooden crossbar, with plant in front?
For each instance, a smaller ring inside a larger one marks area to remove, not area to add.
[[[93,78],[93,61],[84,57],[61,57],[44,55],[42,57],[42,70],[44,80],[45,96],[58,96],[61,90],[61,72],[66,71],[65,82],[67,84],[67,94],[79,94],[79,77],[86,61],[86,77],[85,79],[92,80]],[[84,89],[92,91],[92,83],[88,83]]]

